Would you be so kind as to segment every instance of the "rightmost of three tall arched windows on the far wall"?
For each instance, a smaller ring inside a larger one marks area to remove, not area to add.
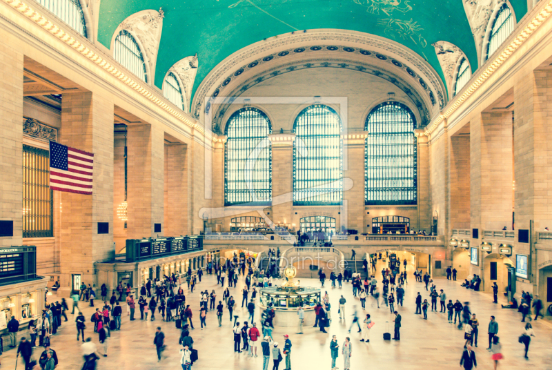
[[[416,204],[415,126],[411,110],[392,101],[376,106],[366,117],[366,204]]]

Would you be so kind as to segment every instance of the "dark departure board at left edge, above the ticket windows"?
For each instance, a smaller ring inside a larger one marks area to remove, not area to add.
[[[0,248],[0,285],[32,280],[36,277],[36,246],[6,246]]]

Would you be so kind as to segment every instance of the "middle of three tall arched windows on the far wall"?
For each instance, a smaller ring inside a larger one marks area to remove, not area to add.
[[[328,106],[309,106],[295,119],[293,132],[293,204],[341,204],[343,144],[339,115]]]

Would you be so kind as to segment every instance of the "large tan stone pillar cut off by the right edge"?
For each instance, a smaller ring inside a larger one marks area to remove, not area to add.
[[[533,242],[538,231],[552,225],[552,71],[535,70],[520,76],[514,84],[514,171],[515,228],[530,230]],[[538,294],[536,250],[515,240],[515,253],[530,255],[530,283],[518,280],[516,296],[522,290]],[[543,283],[540,282],[540,285]],[[545,299],[545,297],[541,297]]]

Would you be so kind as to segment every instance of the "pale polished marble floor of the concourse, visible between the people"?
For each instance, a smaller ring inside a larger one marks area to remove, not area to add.
[[[381,270],[382,266],[378,266]],[[410,271],[411,272],[411,271]],[[381,282],[381,275],[378,273],[378,280]],[[243,281],[244,278],[241,277]],[[216,285],[216,277],[207,275],[198,285],[199,289],[215,289],[217,297],[221,298],[223,289]],[[319,286],[317,280],[302,279],[303,285]],[[524,323],[520,322],[521,315],[517,310],[500,309],[500,304],[493,304],[492,295],[469,291],[460,286],[460,282],[451,282],[444,278],[435,280],[437,289],[444,289],[447,297],[455,302],[459,299],[461,302],[471,302],[473,313],[480,319],[480,345],[475,349],[479,369],[493,369],[491,355],[486,351],[488,339],[486,327],[489,316],[495,315],[499,323],[499,336],[502,342],[502,353],[504,360],[500,362],[499,369],[552,369],[552,349],[551,335],[552,324],[549,320],[533,321],[533,329],[536,338],[531,341],[529,348],[529,359],[523,358],[523,345],[517,342],[518,336],[522,333]],[[186,284],[183,288],[186,291]],[[239,288],[230,288],[231,294],[238,297],[239,290],[243,284],[238,284]],[[390,330],[393,333],[392,320],[393,315],[389,309],[380,303],[380,309],[377,309],[373,298],[369,297],[366,301],[365,313],[370,313],[375,326],[371,330],[371,341],[369,344],[359,342],[360,334],[353,329],[348,334],[348,328],[351,324],[353,304],[360,309],[359,300],[353,297],[351,284],[344,284],[342,289],[332,288],[329,282],[324,290],[327,290],[331,304],[333,306],[333,322],[328,328],[328,333],[321,333],[319,329],[306,326],[303,335],[295,334],[295,328],[278,328],[273,331],[273,338],[282,344],[283,335],[289,334],[293,342],[292,366],[293,369],[330,369],[331,357],[329,344],[332,335],[337,335],[338,342],[341,345],[346,336],[351,338],[353,343],[353,356],[351,358],[351,369],[388,369],[393,366],[402,369],[458,369],[462,347],[464,345],[464,331],[460,331],[454,324],[449,324],[444,313],[434,313],[428,311],[428,320],[423,320],[422,315],[415,315],[415,295],[417,291],[422,293],[423,298],[428,298],[428,292],[425,291],[423,284],[415,282],[413,275],[409,274],[408,284],[406,284],[406,295],[404,306],[398,307],[402,315],[401,341],[385,341],[382,335],[385,329],[385,322],[390,322]],[[228,311],[224,311],[224,320],[222,327],[218,327],[217,318],[214,311],[210,311],[207,317],[207,327],[203,330],[199,328],[199,291],[188,294],[186,291],[186,300],[194,311],[195,330],[191,331],[195,342],[194,348],[198,350],[199,360],[195,362],[194,369],[262,369],[262,356],[250,358],[247,353],[235,353],[233,351],[232,324],[228,320]],[[323,292],[324,293],[324,292]],[[339,320],[337,315],[337,301],[339,295],[343,294],[347,300],[346,320]],[[55,296],[50,298],[56,299]],[[504,297],[500,298],[505,303]],[[98,302],[98,301],[96,301]],[[241,297],[240,297],[241,305]],[[81,306],[83,306],[81,302]],[[83,313],[87,320],[92,315],[93,308],[86,304]],[[98,369],[105,370],[141,370],[141,369],[180,369],[179,367],[179,344],[178,338],[180,330],[175,328],[174,322],[163,322],[161,320],[129,322],[128,316],[124,317],[121,331],[111,333],[110,346],[107,358],[101,358],[98,362]],[[240,309],[237,312],[242,316],[247,315]],[[361,309],[362,314],[362,309]],[[139,318],[139,310],[137,310]],[[69,321],[64,322],[56,335],[52,336],[52,348],[57,351],[59,365],[57,369],[81,369],[81,342],[76,340],[75,315],[68,315]],[[255,317],[259,317],[259,310],[255,312]],[[243,320],[243,319],[242,319]],[[161,362],[157,362],[155,347],[152,344],[155,328],[159,326],[166,335],[166,351]],[[90,330],[91,323],[87,322],[86,331],[94,342],[98,343],[97,334]],[[260,346],[259,346],[260,350]],[[99,349],[101,351],[101,349]],[[36,350],[39,356],[39,349]],[[5,351],[1,356],[1,367],[4,369],[13,369],[15,366],[16,351],[11,349]],[[20,360],[21,361],[21,360]],[[337,359],[337,366],[343,369],[343,358],[340,355]],[[19,366],[21,369],[21,362]],[[280,364],[280,369],[284,369],[284,363]],[[270,369],[272,361],[270,361]]]

